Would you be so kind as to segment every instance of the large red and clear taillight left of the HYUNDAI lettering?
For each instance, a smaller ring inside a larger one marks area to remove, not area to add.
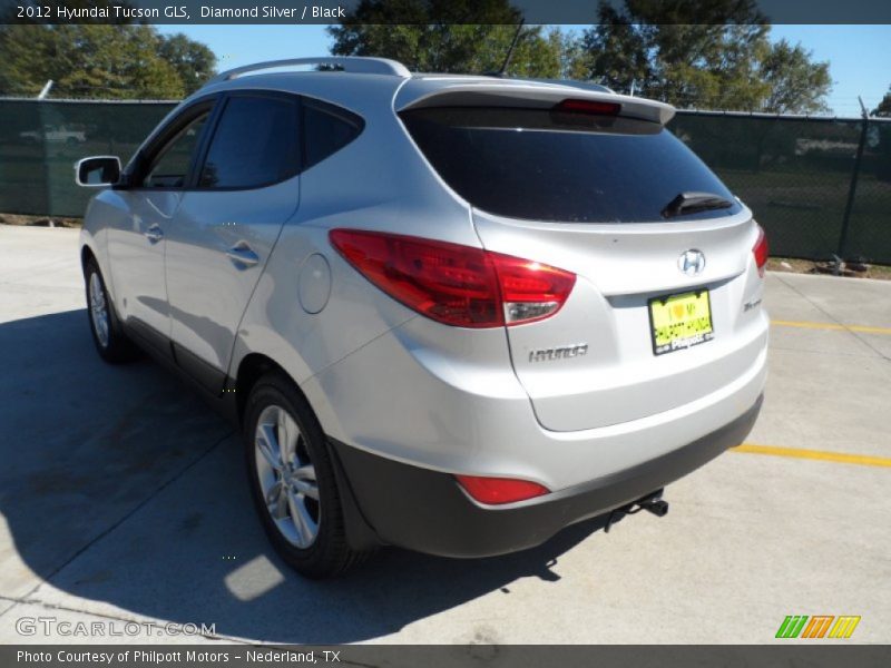
[[[434,321],[459,327],[518,325],[554,315],[576,275],[481,248],[356,229],[331,244],[365,278]]]

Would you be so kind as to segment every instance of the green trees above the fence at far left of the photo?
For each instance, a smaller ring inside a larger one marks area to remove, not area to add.
[[[0,26],[0,95],[36,96],[52,79],[55,97],[178,99],[214,66],[204,45],[150,26]]]

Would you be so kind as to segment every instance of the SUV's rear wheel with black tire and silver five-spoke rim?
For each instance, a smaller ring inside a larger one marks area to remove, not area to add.
[[[284,374],[268,373],[251,390],[244,444],[254,507],[273,547],[290,566],[306,578],[324,579],[363,559],[366,552],[352,550],[346,542],[324,432]]]

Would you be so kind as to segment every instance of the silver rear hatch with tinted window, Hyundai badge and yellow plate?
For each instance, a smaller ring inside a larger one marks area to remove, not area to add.
[[[693,402],[764,348],[751,212],[664,128],[664,106],[627,99],[462,94],[400,114],[471,206],[483,247],[577,276],[555,315],[507,327],[517,376],[554,431]]]

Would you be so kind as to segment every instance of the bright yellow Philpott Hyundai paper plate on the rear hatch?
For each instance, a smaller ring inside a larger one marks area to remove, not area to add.
[[[656,355],[712,341],[712,303],[708,291],[655,297],[649,301],[649,325]]]

